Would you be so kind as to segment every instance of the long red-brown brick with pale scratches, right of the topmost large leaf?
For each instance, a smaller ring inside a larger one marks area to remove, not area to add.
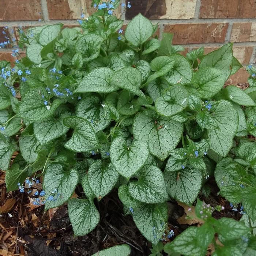
[[[225,42],[227,23],[164,25],[164,32],[173,35],[173,44]]]

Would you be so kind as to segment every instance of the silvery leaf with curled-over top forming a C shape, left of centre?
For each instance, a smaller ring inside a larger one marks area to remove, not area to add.
[[[75,152],[90,152],[99,147],[96,133],[90,123],[82,117],[71,116],[63,120],[64,125],[74,129],[65,147]]]

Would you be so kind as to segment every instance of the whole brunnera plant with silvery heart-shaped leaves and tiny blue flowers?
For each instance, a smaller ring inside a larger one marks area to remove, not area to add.
[[[242,221],[217,221],[215,209],[197,200],[205,224],[165,248],[205,255],[213,241],[215,255],[234,248],[236,255],[249,253],[255,249],[256,69],[246,67],[246,90],[224,88],[242,68],[232,44],[184,57],[172,35],[159,41],[158,25],[141,14],[124,33],[123,21],[112,15],[119,0],[93,4],[97,12],[79,20],[80,28],[20,30],[26,57],[14,68],[0,62],[0,168],[7,192],[30,193],[41,180],[34,204],[48,210],[67,202],[74,234],[83,236],[99,222],[95,200],[115,189],[124,214],[156,246],[174,235],[166,201],[191,205],[200,191],[207,195],[214,176],[233,210],[240,207]],[[70,199],[77,185],[86,199]]]

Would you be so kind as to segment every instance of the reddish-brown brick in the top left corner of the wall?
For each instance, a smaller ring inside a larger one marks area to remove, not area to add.
[[[0,20],[38,20],[41,12],[40,0],[1,0]]]

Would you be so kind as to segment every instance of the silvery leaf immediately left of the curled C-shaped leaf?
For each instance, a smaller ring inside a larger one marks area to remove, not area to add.
[[[69,128],[63,124],[63,119],[48,118],[45,121],[35,122],[33,124],[34,134],[41,145],[51,140],[59,138],[67,133]]]

